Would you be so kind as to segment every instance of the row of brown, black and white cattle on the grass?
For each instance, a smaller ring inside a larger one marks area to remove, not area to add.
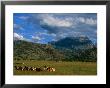
[[[53,67],[28,67],[28,66],[14,66],[15,70],[20,70],[20,71],[49,71],[49,72],[55,72],[55,68]]]

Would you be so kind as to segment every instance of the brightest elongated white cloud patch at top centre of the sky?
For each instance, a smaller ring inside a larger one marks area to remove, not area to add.
[[[48,25],[53,27],[71,27],[73,23],[68,19],[61,19],[58,17],[54,17],[53,15],[42,14],[40,15],[40,24]]]

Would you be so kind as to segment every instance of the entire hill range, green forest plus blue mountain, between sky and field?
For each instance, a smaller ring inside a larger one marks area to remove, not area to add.
[[[88,37],[66,37],[49,44],[15,40],[14,59],[97,61],[97,47]]]

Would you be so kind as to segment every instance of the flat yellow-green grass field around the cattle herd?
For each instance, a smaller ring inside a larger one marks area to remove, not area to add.
[[[14,61],[14,66],[42,67],[44,65],[54,67],[56,71],[36,72],[19,71],[14,69],[14,75],[97,75],[96,62]]]

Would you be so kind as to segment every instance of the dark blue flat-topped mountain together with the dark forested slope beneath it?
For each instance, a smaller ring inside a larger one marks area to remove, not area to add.
[[[97,60],[97,47],[88,37],[66,37],[49,44],[62,51],[67,61]]]

